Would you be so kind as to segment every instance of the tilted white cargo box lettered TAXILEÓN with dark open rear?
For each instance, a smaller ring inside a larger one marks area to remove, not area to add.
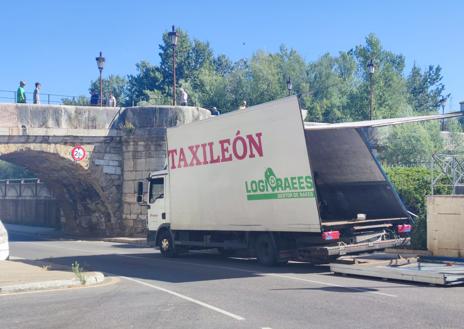
[[[167,131],[173,230],[321,232],[408,218],[362,132],[305,130],[296,97]]]

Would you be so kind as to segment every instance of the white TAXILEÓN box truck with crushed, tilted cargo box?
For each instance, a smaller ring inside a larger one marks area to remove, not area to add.
[[[406,243],[410,215],[361,126],[308,125],[288,97],[169,128],[166,169],[138,183],[148,242],[265,265]]]

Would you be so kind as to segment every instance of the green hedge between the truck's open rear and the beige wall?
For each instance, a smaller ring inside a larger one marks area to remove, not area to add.
[[[430,169],[425,167],[387,167],[385,171],[406,208],[418,216],[412,232],[412,247],[426,249],[426,197],[431,194]],[[449,193],[449,189],[438,187],[435,192],[436,194],[446,194]]]

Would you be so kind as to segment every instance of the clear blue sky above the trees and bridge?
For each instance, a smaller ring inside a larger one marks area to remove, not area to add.
[[[174,24],[232,60],[284,44],[306,61],[363,44],[369,33],[406,57],[407,71],[440,65],[447,111],[464,101],[464,1],[459,0],[42,0],[0,3],[0,90],[26,80],[32,92],[88,95],[98,77],[135,73],[141,60],[159,63],[162,33]]]

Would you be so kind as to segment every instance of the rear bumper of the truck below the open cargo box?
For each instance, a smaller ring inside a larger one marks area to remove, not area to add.
[[[324,261],[330,258],[360,252],[394,248],[409,245],[410,238],[379,240],[356,244],[339,244],[336,246],[315,246],[298,249],[298,259],[302,261]]]

